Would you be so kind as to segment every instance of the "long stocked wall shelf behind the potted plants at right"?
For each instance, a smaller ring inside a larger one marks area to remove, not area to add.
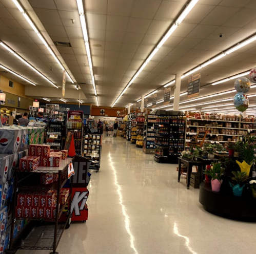
[[[256,123],[231,121],[230,119],[188,118],[186,142],[190,142],[192,136],[196,135],[198,131],[208,132],[204,142],[226,144],[228,142],[236,142],[244,135],[256,135]],[[186,148],[188,147],[186,144]]]

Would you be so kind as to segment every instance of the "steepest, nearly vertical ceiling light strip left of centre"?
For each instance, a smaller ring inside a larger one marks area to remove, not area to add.
[[[93,67],[92,67],[89,38],[88,38],[88,32],[87,32],[87,26],[86,26],[86,20],[85,20],[85,11],[84,11],[83,0],[76,0],[76,4],[77,4],[77,9],[78,9],[79,16],[80,16],[80,23],[81,23],[81,27],[82,27],[82,31],[83,31],[83,35],[84,35],[84,43],[85,43],[87,58],[88,58],[88,62],[89,62],[89,68],[90,68],[90,73],[91,73],[94,95],[97,96],[97,90],[96,90],[96,86],[95,86],[95,78],[94,78]],[[97,106],[99,107],[99,102],[98,102],[97,98],[96,98],[96,101],[97,101]]]

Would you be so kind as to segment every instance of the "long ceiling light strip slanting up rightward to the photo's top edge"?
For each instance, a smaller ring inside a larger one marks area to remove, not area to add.
[[[76,0],[78,1],[78,0]],[[121,98],[121,96],[125,93],[127,88],[133,83],[134,79],[139,76],[139,74],[143,71],[143,69],[147,66],[149,61],[152,59],[152,57],[156,54],[156,52],[164,45],[166,40],[170,37],[170,35],[175,31],[175,29],[182,23],[183,19],[188,15],[188,13],[193,9],[193,7],[198,3],[199,0],[191,0],[189,4],[186,6],[186,8],[183,10],[183,12],[179,15],[179,17],[175,20],[175,22],[172,24],[172,26],[169,28],[169,30],[165,33],[163,38],[160,40],[160,42],[157,44],[157,46],[153,49],[153,51],[149,54],[147,59],[144,61],[141,68],[135,73],[135,75],[132,77],[130,82],[127,84],[123,92],[117,97],[115,102],[112,104],[111,107],[114,107],[115,103]]]

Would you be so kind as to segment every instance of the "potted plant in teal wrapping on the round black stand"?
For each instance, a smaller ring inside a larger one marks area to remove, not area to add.
[[[233,190],[234,196],[241,197],[245,183],[248,181],[249,177],[246,175],[246,172],[232,171],[231,173],[233,177],[231,178],[231,182],[229,182],[230,187]]]

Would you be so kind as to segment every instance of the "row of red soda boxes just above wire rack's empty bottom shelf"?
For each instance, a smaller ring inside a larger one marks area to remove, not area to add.
[[[69,190],[62,189],[60,205],[64,205]],[[17,195],[15,218],[54,219],[56,217],[57,193],[55,190],[26,190]]]

